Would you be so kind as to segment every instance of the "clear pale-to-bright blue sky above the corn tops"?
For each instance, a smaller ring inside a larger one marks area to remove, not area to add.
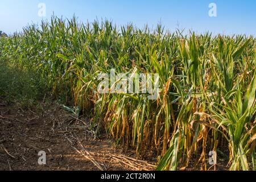
[[[173,31],[179,27],[214,34],[256,36],[255,0],[0,0],[0,30],[11,34],[28,23],[38,23],[38,4],[46,4],[46,19],[55,15],[80,21],[111,19],[117,25],[133,22],[137,27],[159,22]],[[217,17],[210,18],[209,3],[216,3]]]

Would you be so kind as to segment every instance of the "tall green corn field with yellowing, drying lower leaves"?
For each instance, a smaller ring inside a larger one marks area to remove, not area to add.
[[[230,170],[255,170],[256,39],[184,35],[105,20],[78,23],[55,16],[0,40],[0,61],[46,78],[53,96],[72,100],[91,125],[156,170],[199,166],[225,153]],[[145,94],[100,94],[101,72],[158,73],[156,100]]]

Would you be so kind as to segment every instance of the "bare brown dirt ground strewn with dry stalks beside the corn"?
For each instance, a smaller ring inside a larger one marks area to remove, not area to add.
[[[39,151],[46,165],[39,165]],[[98,139],[86,119],[52,106],[23,109],[0,98],[0,170],[154,170],[107,138]]]

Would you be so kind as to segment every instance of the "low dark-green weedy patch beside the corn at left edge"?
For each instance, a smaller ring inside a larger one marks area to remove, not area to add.
[[[19,102],[31,107],[46,98],[47,93],[46,84],[33,71],[0,63],[0,97],[5,98],[7,104]]]

